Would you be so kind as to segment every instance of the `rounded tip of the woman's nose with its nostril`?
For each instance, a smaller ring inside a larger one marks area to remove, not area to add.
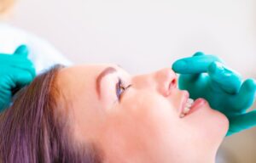
[[[156,72],[158,89],[161,94],[168,96],[172,89],[177,88],[177,75],[171,68],[162,69]]]

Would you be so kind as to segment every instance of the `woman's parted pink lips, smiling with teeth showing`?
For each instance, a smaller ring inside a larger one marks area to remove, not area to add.
[[[184,116],[190,115],[201,108],[202,104],[205,104],[206,100],[204,98],[197,98],[195,101],[192,98],[189,98],[188,91],[184,91],[182,107],[179,112],[179,117],[183,118]]]

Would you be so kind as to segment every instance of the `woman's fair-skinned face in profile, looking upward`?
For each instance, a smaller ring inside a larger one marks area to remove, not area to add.
[[[131,76],[118,65],[64,68],[58,85],[73,136],[102,149],[106,162],[210,162],[227,118],[198,100],[180,117],[189,93],[170,68]]]

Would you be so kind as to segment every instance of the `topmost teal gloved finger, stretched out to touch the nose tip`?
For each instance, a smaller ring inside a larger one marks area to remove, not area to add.
[[[208,66],[214,61],[221,62],[214,55],[204,55],[203,53],[195,53],[193,57],[178,59],[172,65],[172,70],[179,74],[199,74],[207,72]]]

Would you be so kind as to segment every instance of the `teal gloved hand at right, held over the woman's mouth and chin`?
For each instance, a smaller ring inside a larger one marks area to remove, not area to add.
[[[241,76],[216,56],[201,52],[178,59],[172,69],[181,74],[180,89],[188,90],[191,98],[207,99],[212,109],[228,117],[230,127],[226,136],[256,126],[256,110],[246,112],[255,98],[255,80],[242,82]]]

